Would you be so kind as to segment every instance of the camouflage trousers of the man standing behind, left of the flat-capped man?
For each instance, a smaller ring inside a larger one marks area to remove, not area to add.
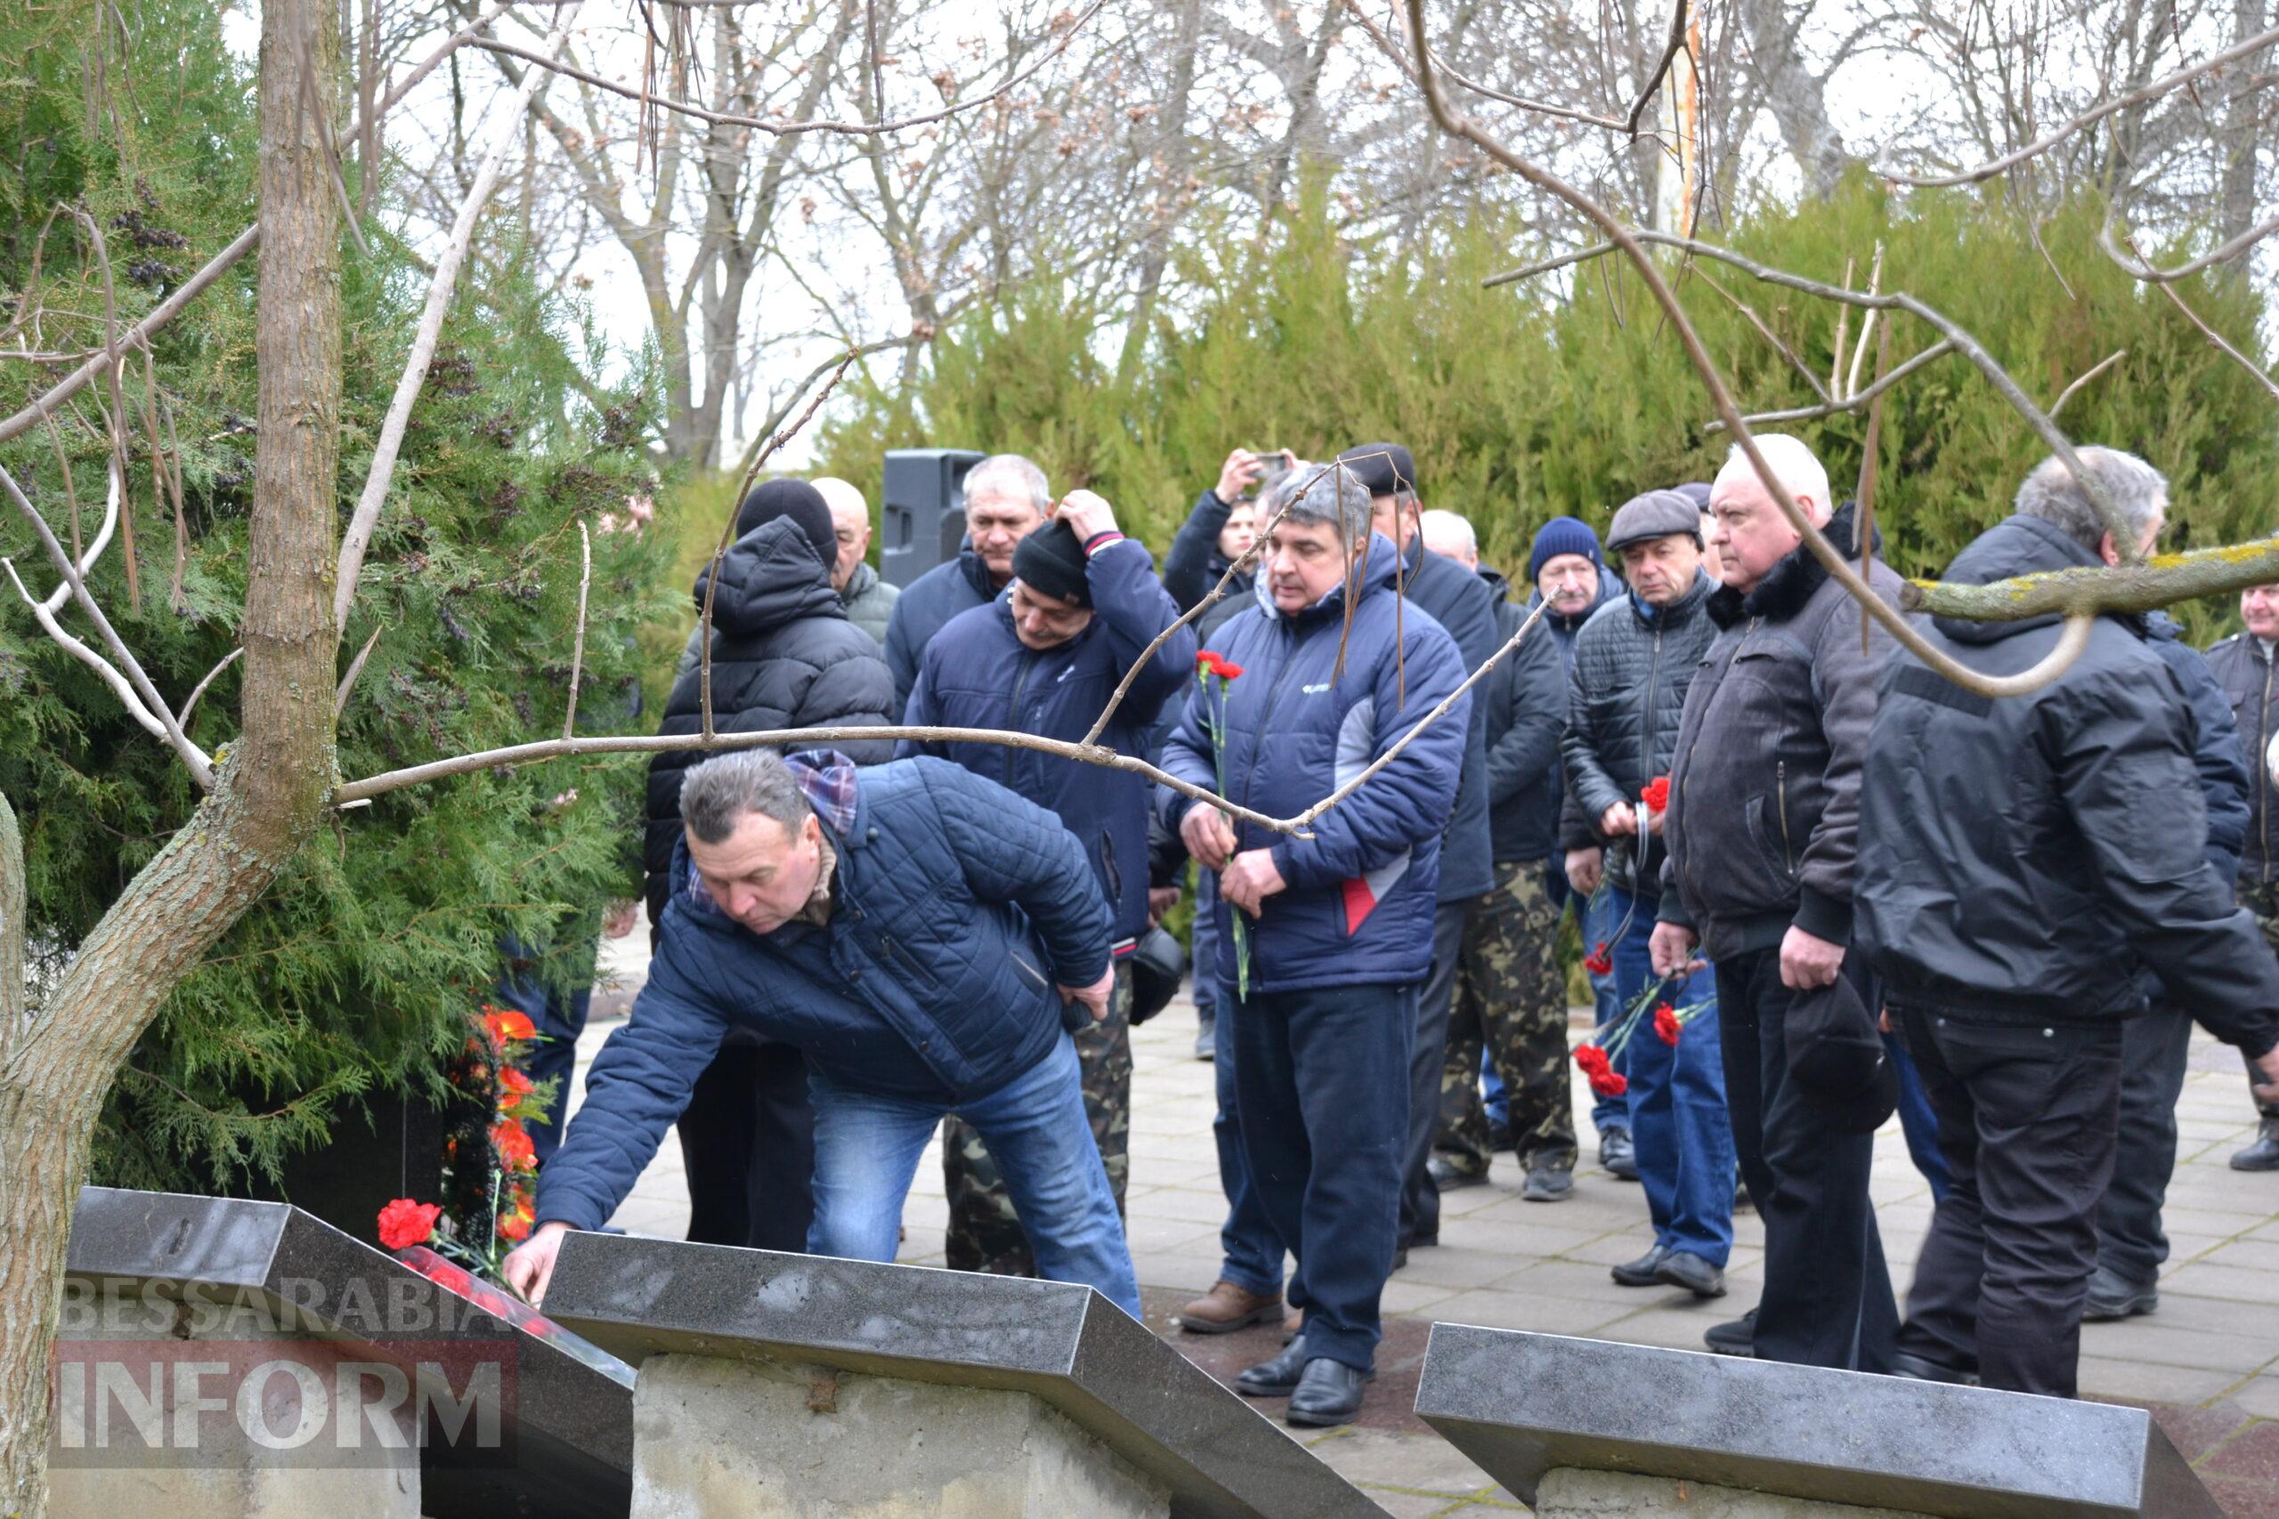
[[[1504,1079],[1520,1166],[1575,1168],[1568,1073],[1566,977],[1559,975],[1559,909],[1541,863],[1495,868],[1495,890],[1472,904],[1456,961],[1440,1068],[1440,1132],[1433,1148],[1465,1175],[1488,1171],[1488,1111],[1479,1100],[1481,1048]]]

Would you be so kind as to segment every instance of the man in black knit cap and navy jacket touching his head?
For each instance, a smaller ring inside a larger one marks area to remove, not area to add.
[[[1089,490],[1069,492],[1053,522],[1014,547],[1012,574],[1005,594],[934,633],[909,692],[907,726],[1014,729],[1078,742],[1108,711],[1124,672],[1178,622],[1146,547],[1124,537],[1114,510]],[[1194,633],[1178,629],[1133,676],[1098,742],[1144,758],[1165,701],[1192,672]],[[1149,920],[1149,781],[1010,745],[902,740],[896,754],[934,754],[1028,797],[1055,813],[1092,859],[1114,920],[1117,984],[1108,1018],[1078,1032],[1076,1054],[1092,1134],[1121,1212],[1133,1089],[1126,956]],[[950,1198],[950,1268],[1030,1275],[1035,1253],[996,1161],[959,1118],[941,1132],[941,1173]]]

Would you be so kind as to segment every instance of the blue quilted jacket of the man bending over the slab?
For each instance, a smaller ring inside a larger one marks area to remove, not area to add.
[[[795,1045],[839,1086],[955,1107],[1030,1070],[1083,1016],[1055,982],[1108,970],[1108,906],[1060,820],[937,758],[850,777],[848,811],[818,811],[839,856],[823,927],[745,929],[684,845],[650,982],[540,1173],[540,1223],[608,1221],[732,1027]]]

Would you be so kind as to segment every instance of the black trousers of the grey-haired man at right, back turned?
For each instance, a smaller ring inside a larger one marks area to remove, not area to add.
[[[2113,1180],[2122,1027],[1905,1011],[1955,1184],[1930,1218],[1898,1348],[1985,1387],[2072,1398],[2097,1205]]]

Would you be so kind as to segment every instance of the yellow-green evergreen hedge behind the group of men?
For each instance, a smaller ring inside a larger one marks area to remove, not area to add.
[[[2270,396],[2160,292],[2099,253],[2099,221],[2092,198],[2044,219],[2044,257],[1996,191],[1898,200],[1855,182],[1810,207],[1759,207],[1718,237],[1828,282],[1851,269],[1855,287],[1880,244],[1885,287],[1976,332],[2044,408],[2126,351],[2067,401],[2060,426],[2167,471],[2167,547],[2240,542],[2261,531],[2279,487]],[[1470,515],[1488,558],[1506,567],[1525,565],[1527,540],[1554,515],[1604,528],[1627,496],[1705,481],[1723,462],[1727,444],[1705,426],[1700,380],[1618,260],[1484,287],[1557,248],[1493,212],[1356,246],[1320,187],[1269,241],[1233,232],[1199,237],[1201,251],[1181,255],[1181,301],[1158,314],[1144,362],[1121,383],[1119,332],[1053,289],[1014,292],[955,323],[914,389],[855,392],[859,403],[825,435],[825,462],[875,487],[882,449],[1023,449],[1055,485],[1108,494],[1162,549],[1235,444],[1324,453],[1397,437],[1418,455],[1427,501]],[[1707,260],[1680,273],[1677,292],[1748,410],[1819,396],[1741,303],[1821,385],[1837,367],[1851,371],[1857,312],[1841,317],[1832,303]],[[2179,292],[2236,346],[2261,353],[2265,292],[2227,273]],[[1939,337],[1912,317],[1896,323],[1894,364]],[[1871,380],[1873,342],[1860,385]],[[1821,451],[1835,490],[1848,494],[1864,414],[1787,430]],[[1894,565],[1942,569],[2008,512],[2042,455],[2024,417],[1962,358],[1903,380],[1887,403],[1878,474]],[[2222,617],[2220,606],[2176,610],[2202,633]]]

